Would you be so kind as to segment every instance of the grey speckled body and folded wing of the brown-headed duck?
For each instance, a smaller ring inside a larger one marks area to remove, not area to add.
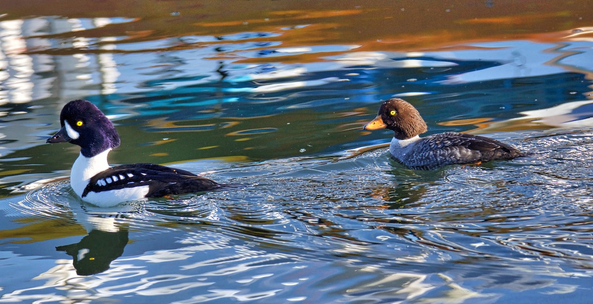
[[[413,169],[435,169],[444,165],[473,164],[522,155],[519,150],[495,139],[448,132],[420,139],[401,162]]]

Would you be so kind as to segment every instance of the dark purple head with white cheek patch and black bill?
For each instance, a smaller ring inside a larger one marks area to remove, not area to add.
[[[62,129],[46,142],[74,143],[80,146],[82,155],[86,157],[117,148],[120,143],[111,121],[90,101],[73,100],[64,105],[60,125]]]

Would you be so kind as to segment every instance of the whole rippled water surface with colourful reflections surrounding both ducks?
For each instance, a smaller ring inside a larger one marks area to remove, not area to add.
[[[0,16],[0,303],[591,301],[585,2],[154,3]],[[403,168],[362,130],[394,96],[529,154]],[[116,123],[112,164],[231,187],[82,203],[78,149],[44,144],[74,98]]]

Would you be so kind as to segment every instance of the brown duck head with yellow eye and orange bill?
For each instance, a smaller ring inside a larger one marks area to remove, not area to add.
[[[364,126],[365,130],[393,130],[397,139],[409,139],[426,132],[426,123],[416,108],[400,98],[391,98],[381,104],[379,114]]]

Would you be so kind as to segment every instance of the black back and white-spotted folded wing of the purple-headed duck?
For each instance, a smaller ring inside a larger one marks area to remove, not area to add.
[[[155,164],[130,164],[111,167],[91,178],[82,197],[89,192],[101,192],[130,187],[149,188],[147,197],[210,190],[218,184],[192,172]]]

